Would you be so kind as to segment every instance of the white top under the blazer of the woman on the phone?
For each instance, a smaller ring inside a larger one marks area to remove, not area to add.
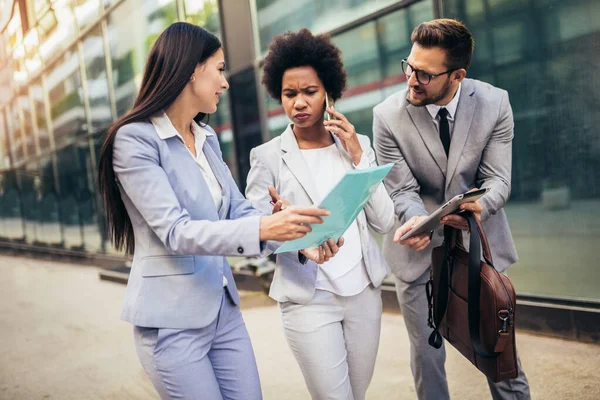
[[[300,150],[315,182],[317,192],[324,198],[342,179],[346,168],[337,146],[320,149]],[[355,168],[367,168],[369,162],[364,156]],[[339,296],[354,296],[361,293],[371,282],[363,261],[360,233],[356,220],[344,232],[344,245],[339,252],[320,264],[317,270],[315,288],[335,293]]]

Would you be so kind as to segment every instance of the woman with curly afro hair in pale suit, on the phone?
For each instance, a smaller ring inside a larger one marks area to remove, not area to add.
[[[337,100],[346,86],[340,50],[328,36],[308,29],[276,36],[263,84],[290,124],[250,153],[246,196],[256,208],[318,204],[346,171],[376,165],[369,138],[333,104],[326,109],[326,96]],[[269,294],[280,304],[313,399],[365,398],[379,346],[380,285],[389,271],[368,228],[384,234],[393,223],[392,200],[380,184],[338,243],[277,256]]]

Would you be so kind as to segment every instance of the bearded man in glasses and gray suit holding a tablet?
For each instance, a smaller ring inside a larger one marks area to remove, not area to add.
[[[437,19],[412,33],[413,47],[402,68],[408,88],[393,94],[374,112],[373,136],[380,164],[394,163],[385,186],[394,201],[395,234],[383,250],[396,278],[396,290],[411,343],[411,367],[419,399],[448,399],[444,347],[427,338],[427,297],[431,250],[443,241],[443,227],[400,240],[423,218],[473,188],[489,192],[461,208],[473,211],[484,226],[495,267],[517,261],[504,204],[510,196],[513,117],[508,93],[466,79],[474,40],[458,21]],[[464,218],[443,224],[467,230]],[[468,241],[467,241],[468,243]],[[489,382],[494,399],[529,399],[529,384],[519,363],[517,379]]]

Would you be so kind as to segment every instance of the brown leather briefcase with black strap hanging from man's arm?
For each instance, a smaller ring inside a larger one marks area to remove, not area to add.
[[[515,290],[493,266],[485,232],[471,212],[469,251],[462,231],[444,227],[444,243],[433,249],[427,283],[429,344],[442,346],[442,336],[492,382],[517,377]],[[483,259],[481,261],[481,249]]]

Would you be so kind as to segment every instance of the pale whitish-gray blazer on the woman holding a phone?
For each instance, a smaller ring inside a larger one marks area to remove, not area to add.
[[[377,165],[369,138],[364,135],[358,135],[358,138],[364,152],[363,157],[367,157],[370,166]],[[334,136],[334,140],[346,169],[353,168],[352,160],[339,139]],[[252,149],[250,164],[246,197],[263,213],[270,213],[272,210],[268,185],[274,186],[293,205],[311,206],[320,202],[291,126],[280,136]],[[389,267],[368,227],[379,233],[387,233],[394,224],[394,205],[383,184],[379,185],[356,221],[367,273],[373,285],[378,287],[389,274]],[[317,268],[314,261],[302,264],[297,253],[278,254],[269,295],[279,302],[308,303],[315,292]]]

